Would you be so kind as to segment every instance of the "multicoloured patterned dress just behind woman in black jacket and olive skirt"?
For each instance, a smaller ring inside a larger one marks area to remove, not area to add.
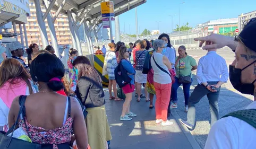
[[[78,72],[73,67],[74,58],[70,57],[67,60],[67,67],[69,68],[69,76],[70,76],[70,88],[72,91],[75,91],[76,82],[78,81]]]

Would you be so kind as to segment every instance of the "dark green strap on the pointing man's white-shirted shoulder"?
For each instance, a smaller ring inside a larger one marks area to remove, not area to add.
[[[241,119],[247,122],[252,127],[256,128],[256,109],[238,110],[238,111],[228,113],[224,117],[229,117],[229,116]]]

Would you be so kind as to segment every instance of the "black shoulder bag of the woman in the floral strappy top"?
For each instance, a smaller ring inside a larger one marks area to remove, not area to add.
[[[27,141],[23,141],[22,139],[12,137],[15,127],[18,124],[18,120],[20,119],[20,115],[22,113],[22,110],[25,104],[25,98],[27,98],[27,96],[24,96],[24,95],[21,95],[19,98],[19,101],[22,101],[22,102],[20,104],[20,111],[19,111],[18,117],[15,121],[15,124],[2,137],[0,142],[1,149],[41,149],[41,144],[30,143]],[[8,134],[11,134],[11,137],[7,136]]]

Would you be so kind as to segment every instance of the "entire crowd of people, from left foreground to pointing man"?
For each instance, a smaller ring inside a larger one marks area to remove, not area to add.
[[[206,148],[252,148],[255,145],[252,137],[255,135],[255,101],[247,110],[230,113],[218,120],[218,98],[221,85],[229,77],[236,90],[254,95],[256,99],[256,49],[252,37],[255,27],[255,19],[249,20],[235,40],[219,34],[196,38],[200,47],[206,42],[203,49],[208,50],[198,64],[185,46],[178,47],[176,56],[176,49],[165,33],[156,40],[137,40],[127,47],[121,41],[111,42],[108,51],[105,46],[101,50],[95,47],[96,54],[105,54],[102,74],[109,78],[109,100],[125,100],[120,120],[132,120],[137,116],[130,110],[135,92],[136,101],[145,99],[150,102],[149,109],[155,107],[157,124],[172,125],[167,113],[168,109],[177,108],[177,89],[182,84],[187,120],[181,123],[187,128],[195,127],[195,104],[205,95],[209,100],[211,130]],[[224,46],[235,52],[229,72],[225,59],[216,52]],[[3,48],[0,47],[0,52]],[[12,57],[0,59],[1,134],[12,131],[13,136],[24,134],[32,143],[47,149],[70,148],[74,144],[79,149],[108,148],[112,135],[105,110],[105,94],[101,76],[90,60],[78,56],[78,51],[71,48],[69,59],[63,64],[64,61],[54,55],[52,46],[39,50],[38,45],[32,43],[26,50],[27,65],[22,59],[23,48],[19,42],[14,42],[7,49]],[[190,95],[194,70],[197,70],[198,85]],[[125,94],[125,99],[118,97],[118,91]],[[18,125],[14,127],[15,124]]]

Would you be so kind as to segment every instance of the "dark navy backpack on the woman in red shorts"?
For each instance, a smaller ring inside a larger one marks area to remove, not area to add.
[[[120,63],[118,63],[117,67],[115,68],[115,80],[120,88],[124,87],[126,84],[130,84],[132,88],[132,85],[131,85],[132,78],[127,74],[126,69],[122,65],[122,59],[120,60]]]

